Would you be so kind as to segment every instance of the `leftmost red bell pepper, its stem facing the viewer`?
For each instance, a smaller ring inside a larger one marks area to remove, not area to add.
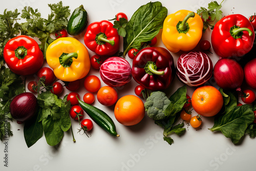
[[[44,63],[37,42],[26,35],[10,39],[4,48],[4,59],[9,69],[18,75],[36,73]]]

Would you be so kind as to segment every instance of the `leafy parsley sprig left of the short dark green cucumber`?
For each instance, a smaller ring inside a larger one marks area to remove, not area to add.
[[[48,15],[48,19],[41,18],[40,12],[37,9],[31,7],[24,7],[22,10],[22,18],[25,18],[27,22],[22,23],[22,34],[37,37],[41,44],[39,44],[44,57],[47,47],[54,40],[50,37],[51,34],[65,29],[68,24],[68,17],[70,16],[69,6],[63,6],[60,1],[57,4],[49,4],[51,13]]]

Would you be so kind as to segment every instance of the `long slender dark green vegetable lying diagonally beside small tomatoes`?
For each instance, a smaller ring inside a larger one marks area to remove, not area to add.
[[[78,98],[77,98],[78,99]],[[87,104],[78,99],[78,102],[81,108],[93,119],[95,123],[97,123],[102,129],[106,132],[110,133],[110,135],[119,137],[119,134],[116,133],[116,126],[111,117],[107,115],[104,111]]]

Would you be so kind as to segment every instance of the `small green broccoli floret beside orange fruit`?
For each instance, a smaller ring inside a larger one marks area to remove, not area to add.
[[[164,111],[169,105],[170,100],[165,93],[157,91],[152,92],[150,97],[144,103],[147,116],[154,120],[164,119]]]

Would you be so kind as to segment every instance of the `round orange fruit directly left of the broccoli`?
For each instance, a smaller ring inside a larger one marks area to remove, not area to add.
[[[121,97],[114,109],[116,120],[123,125],[131,126],[139,123],[144,115],[145,108],[143,101],[134,95]]]

